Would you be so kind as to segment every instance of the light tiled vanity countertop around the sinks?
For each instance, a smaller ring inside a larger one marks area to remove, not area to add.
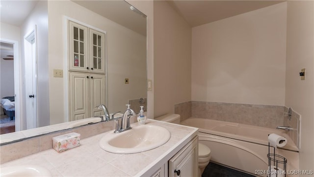
[[[77,148],[61,153],[54,149],[45,150],[1,164],[1,168],[14,165],[39,165],[48,169],[53,177],[147,176],[156,172],[198,133],[198,128],[158,120],[148,119],[147,124],[159,125],[168,129],[171,133],[169,141],[158,148],[140,153],[115,154],[107,152],[99,146],[99,141],[108,133],[105,132],[82,139]],[[142,125],[133,123],[131,126]]]

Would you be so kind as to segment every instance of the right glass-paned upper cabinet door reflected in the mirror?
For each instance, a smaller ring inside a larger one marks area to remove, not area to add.
[[[90,66],[94,73],[105,73],[105,34],[89,29],[90,33]]]

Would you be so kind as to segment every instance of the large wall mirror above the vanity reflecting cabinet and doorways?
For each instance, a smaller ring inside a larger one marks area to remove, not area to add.
[[[123,0],[0,3],[8,132],[100,116],[100,104],[109,113],[146,108],[146,16],[136,8]]]

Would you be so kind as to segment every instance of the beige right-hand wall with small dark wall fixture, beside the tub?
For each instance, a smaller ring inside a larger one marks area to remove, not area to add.
[[[314,170],[314,1],[288,1],[287,14],[285,105],[301,115],[300,169]]]

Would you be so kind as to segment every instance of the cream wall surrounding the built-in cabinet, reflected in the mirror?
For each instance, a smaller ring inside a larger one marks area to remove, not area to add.
[[[125,111],[128,99],[146,97],[146,63],[144,66],[144,62],[140,65],[131,61],[135,58],[146,58],[146,36],[118,25],[72,1],[48,1],[48,12],[51,124],[64,121],[64,102],[67,101],[67,98],[64,99],[64,79],[52,77],[52,69],[64,68],[63,54],[67,48],[63,41],[64,15],[107,32],[106,106],[109,112]],[[131,54],[134,50],[138,52]],[[132,74],[126,74],[125,71],[132,71]],[[65,70],[64,75],[67,75]],[[143,78],[138,79],[137,76]],[[125,78],[130,79],[129,85],[124,84]],[[141,89],[132,89],[132,85]],[[115,94],[116,92],[119,94]]]

